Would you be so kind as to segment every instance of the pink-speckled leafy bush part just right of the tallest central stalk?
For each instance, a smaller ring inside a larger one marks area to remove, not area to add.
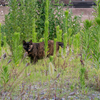
[[[49,6],[49,38],[54,39],[56,38],[56,26],[59,25],[59,27],[63,28],[63,3],[59,3],[59,0],[57,2],[52,3],[52,0],[49,0],[50,6]],[[55,5],[58,6],[55,6]]]

